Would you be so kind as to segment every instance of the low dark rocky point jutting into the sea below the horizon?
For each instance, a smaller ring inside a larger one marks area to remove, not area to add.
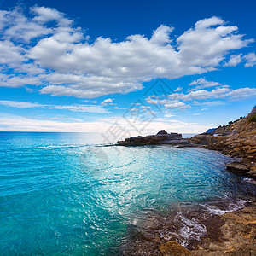
[[[117,142],[121,146],[137,145],[160,145],[168,144],[173,146],[189,147],[193,146],[188,140],[183,139],[181,134],[167,133],[165,130],[159,131],[156,135],[137,136],[126,138],[125,141]]]

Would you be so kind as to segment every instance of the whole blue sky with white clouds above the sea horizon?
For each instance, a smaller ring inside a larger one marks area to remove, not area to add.
[[[0,0],[0,131],[200,133],[256,104],[254,1]]]

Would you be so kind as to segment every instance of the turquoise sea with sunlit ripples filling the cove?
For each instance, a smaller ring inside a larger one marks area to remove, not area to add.
[[[98,134],[0,132],[1,255],[119,255],[144,211],[254,196],[218,152],[101,143]]]

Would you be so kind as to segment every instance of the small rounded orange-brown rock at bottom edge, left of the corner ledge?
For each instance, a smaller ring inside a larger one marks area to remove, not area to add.
[[[163,256],[189,256],[195,255],[182,247],[177,241],[167,241],[158,247]]]

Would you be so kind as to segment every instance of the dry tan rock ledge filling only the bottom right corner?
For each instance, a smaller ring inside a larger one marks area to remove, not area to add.
[[[250,256],[256,255],[256,204],[238,210],[218,215],[223,225],[215,230],[215,236],[220,236],[219,241],[201,239],[197,250],[192,251],[195,255],[202,256]],[[174,254],[175,255],[175,254]]]

